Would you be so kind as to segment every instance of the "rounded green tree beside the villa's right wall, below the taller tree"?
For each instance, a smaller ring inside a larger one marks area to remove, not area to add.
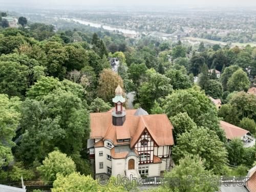
[[[206,169],[216,174],[221,174],[228,162],[224,143],[214,131],[205,127],[193,127],[177,138],[177,145],[173,149],[174,159],[184,158],[187,153],[199,155],[205,160]]]

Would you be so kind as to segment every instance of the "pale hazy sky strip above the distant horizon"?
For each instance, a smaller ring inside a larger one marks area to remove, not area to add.
[[[189,6],[256,6],[256,0],[0,0],[0,5],[23,5],[23,6],[172,6],[172,5],[189,5]],[[1,8],[0,8],[1,9]]]

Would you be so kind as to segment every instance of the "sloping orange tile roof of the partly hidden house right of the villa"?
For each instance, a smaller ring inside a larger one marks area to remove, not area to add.
[[[225,121],[221,121],[221,128],[225,131],[226,133],[226,138],[227,139],[234,139],[234,138],[241,138],[244,135],[246,135],[247,133],[249,133],[249,131],[244,130],[238,126],[232,125],[230,123],[227,123]]]

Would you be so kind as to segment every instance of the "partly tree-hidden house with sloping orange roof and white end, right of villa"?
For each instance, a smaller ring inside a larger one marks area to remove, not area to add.
[[[239,138],[244,142],[244,147],[252,147],[255,145],[255,138],[251,136],[249,131],[244,130],[238,126],[232,125],[225,121],[221,121],[221,128],[224,130],[226,134],[226,138],[228,141]]]

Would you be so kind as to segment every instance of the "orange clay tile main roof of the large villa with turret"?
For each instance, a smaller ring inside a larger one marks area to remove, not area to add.
[[[158,146],[174,145],[173,125],[165,114],[134,116],[136,110],[126,110],[122,126],[112,124],[112,110],[105,113],[91,113],[91,139],[110,139],[115,145],[127,144],[118,139],[131,139],[131,147],[137,143],[146,129]]]

